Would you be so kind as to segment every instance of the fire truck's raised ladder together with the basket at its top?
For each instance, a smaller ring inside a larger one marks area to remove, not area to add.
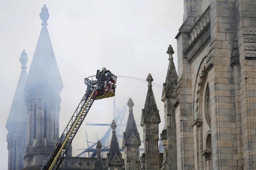
[[[56,170],[60,167],[64,154],[72,143],[94,100],[115,96],[116,78],[114,74],[108,72],[84,79],[84,83],[87,85],[86,92],[41,170]]]

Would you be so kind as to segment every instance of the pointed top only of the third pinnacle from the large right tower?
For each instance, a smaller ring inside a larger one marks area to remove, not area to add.
[[[136,126],[136,122],[134,120],[132,107],[134,106],[134,103],[132,102],[132,99],[130,98],[128,100],[127,105],[129,106],[129,116],[127,120],[126,130],[123,135],[123,143],[122,148],[124,149],[126,145],[129,146],[140,146],[140,133],[138,133],[138,129]]]

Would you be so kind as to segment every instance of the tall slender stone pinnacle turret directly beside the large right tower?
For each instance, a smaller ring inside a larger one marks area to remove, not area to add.
[[[176,122],[175,109],[172,102],[174,101],[174,92],[178,75],[173,63],[174,51],[170,45],[167,51],[169,55],[169,66],[166,80],[163,84],[162,102],[164,102],[164,130],[161,133],[161,140],[164,146],[162,170],[177,169],[177,145],[176,145]]]

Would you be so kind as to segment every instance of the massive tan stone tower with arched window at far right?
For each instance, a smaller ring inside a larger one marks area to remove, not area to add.
[[[184,0],[173,102],[180,170],[256,168],[255,13],[255,0]]]

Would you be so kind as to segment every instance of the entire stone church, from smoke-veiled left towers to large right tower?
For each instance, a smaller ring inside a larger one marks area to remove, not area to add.
[[[22,71],[6,123],[9,170],[40,169],[59,137],[63,84],[47,30],[48,17],[44,6],[28,74],[27,54],[21,53]],[[164,113],[156,106],[152,75],[146,78],[148,92],[140,120],[144,153],[139,153],[135,123],[139,120],[134,120],[130,99],[124,154],[112,121],[107,158],[100,156],[100,141],[96,158],[72,157],[70,148],[61,170],[256,169],[256,1],[184,0],[183,24],[175,38],[178,71],[170,45],[162,90]],[[165,124],[159,131],[160,114]]]

